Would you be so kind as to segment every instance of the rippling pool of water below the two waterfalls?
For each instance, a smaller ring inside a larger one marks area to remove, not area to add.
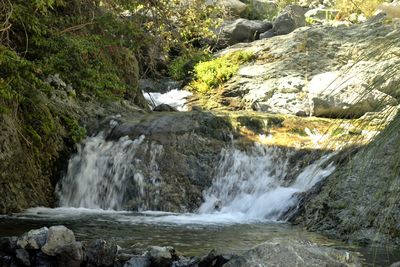
[[[362,254],[366,266],[388,266],[400,261],[394,247],[349,246],[300,227],[271,221],[247,220],[242,214],[174,214],[116,212],[74,208],[35,208],[0,217],[0,236],[21,235],[43,226],[65,225],[77,240],[113,240],[123,248],[173,246],[187,256],[204,255],[216,248],[243,253],[272,238],[301,238]]]

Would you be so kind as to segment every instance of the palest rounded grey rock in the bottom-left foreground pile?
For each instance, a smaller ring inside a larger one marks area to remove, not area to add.
[[[56,250],[75,242],[74,233],[63,225],[52,226],[49,228],[46,244],[42,247],[42,252],[55,256]]]

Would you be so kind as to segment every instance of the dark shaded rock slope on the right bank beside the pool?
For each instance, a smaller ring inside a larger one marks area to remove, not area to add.
[[[343,160],[292,221],[360,243],[400,242],[400,118]]]

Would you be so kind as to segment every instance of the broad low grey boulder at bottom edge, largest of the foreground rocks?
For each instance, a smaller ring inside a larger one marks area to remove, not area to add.
[[[258,266],[350,267],[361,266],[361,262],[353,252],[318,247],[306,240],[277,238],[252,248],[224,265],[224,267]]]

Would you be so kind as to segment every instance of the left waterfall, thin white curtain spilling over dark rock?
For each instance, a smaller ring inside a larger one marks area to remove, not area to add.
[[[135,201],[138,209],[150,208],[147,187],[157,193],[162,176],[156,158],[162,153],[161,145],[145,142],[144,136],[106,141],[100,133],[87,138],[57,185],[60,206],[121,210]],[[152,198],[157,202],[156,195]]]

